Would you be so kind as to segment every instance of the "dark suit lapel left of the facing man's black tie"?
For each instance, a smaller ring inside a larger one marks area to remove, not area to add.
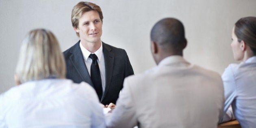
[[[70,51],[72,53],[72,56],[70,56],[69,59],[71,60],[73,66],[76,68],[76,71],[82,78],[82,81],[87,82],[89,85],[93,87],[93,83],[91,81],[91,77],[85,65],[84,57],[82,56],[82,51],[79,46],[79,43],[80,41],[78,41],[78,43],[76,43],[76,45]]]

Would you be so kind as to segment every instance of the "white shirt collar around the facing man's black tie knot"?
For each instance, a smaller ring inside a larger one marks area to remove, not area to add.
[[[89,58],[90,54],[95,54],[98,57],[99,62],[100,62],[100,60],[102,58],[102,52],[103,52],[103,50],[102,50],[102,42],[101,42],[100,48],[96,52],[94,52],[94,53],[91,53],[85,47],[83,47],[81,42],[79,43],[79,46],[80,46],[80,49],[82,51],[82,55],[84,56],[85,61],[87,61],[87,59]]]

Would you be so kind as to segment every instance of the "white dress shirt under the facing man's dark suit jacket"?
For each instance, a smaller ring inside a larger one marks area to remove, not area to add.
[[[90,76],[91,76],[92,59],[89,56],[90,56],[90,54],[95,54],[98,57],[97,62],[99,64],[99,68],[100,68],[100,76],[101,76],[101,83],[102,83],[102,94],[103,94],[104,90],[105,90],[105,86],[106,86],[106,80],[105,80],[106,77],[105,77],[105,61],[104,61],[104,54],[103,54],[103,50],[102,50],[102,42],[101,42],[100,48],[94,53],[91,53],[86,48],[84,48],[82,46],[81,42],[80,42],[79,45],[80,45],[80,48],[82,50],[82,56],[84,56],[85,65],[87,67],[87,70],[88,70]]]

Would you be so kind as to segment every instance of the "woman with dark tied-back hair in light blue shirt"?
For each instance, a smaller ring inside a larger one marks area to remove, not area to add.
[[[244,17],[232,30],[231,43],[234,59],[240,64],[230,64],[222,75],[225,107],[232,106],[234,116],[242,128],[256,126],[256,17]],[[232,114],[231,114],[232,115]],[[224,116],[223,121],[227,121]]]

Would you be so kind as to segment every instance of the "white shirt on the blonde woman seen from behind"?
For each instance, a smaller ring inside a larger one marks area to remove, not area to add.
[[[0,128],[105,128],[94,89],[85,82],[43,79],[0,95]]]

